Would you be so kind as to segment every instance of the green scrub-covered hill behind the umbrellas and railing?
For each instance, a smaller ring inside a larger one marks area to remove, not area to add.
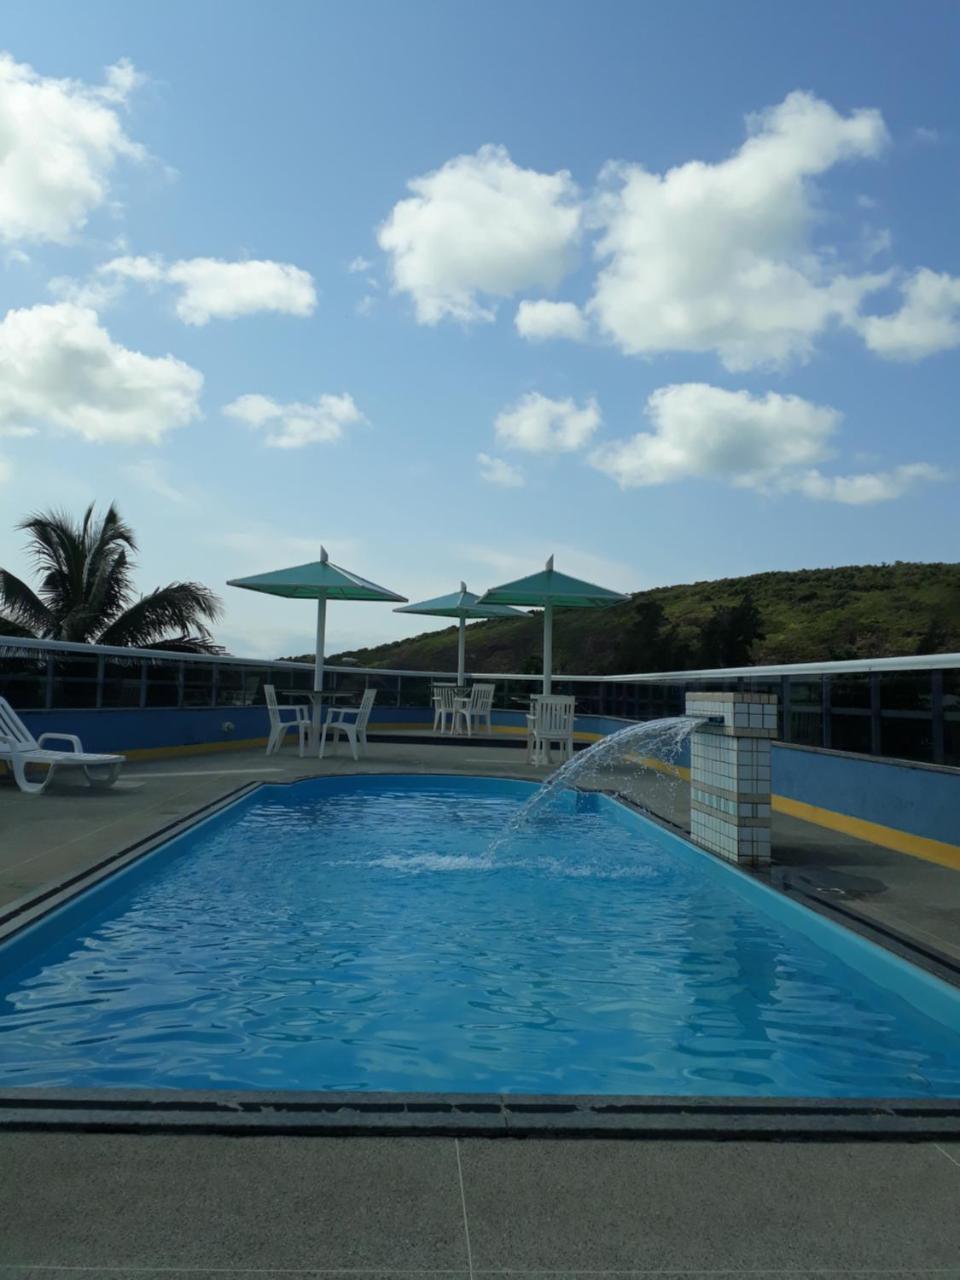
[[[475,622],[474,671],[535,672],[539,616]],[[637,591],[609,609],[558,611],[554,669],[582,675],[960,650],[960,564],[850,564]],[[449,671],[456,627],[337,657]]]

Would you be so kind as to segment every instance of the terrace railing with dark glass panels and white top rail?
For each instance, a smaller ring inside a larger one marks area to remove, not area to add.
[[[499,708],[522,709],[538,673],[470,672],[497,686]],[[20,710],[255,707],[264,685],[307,691],[312,663],[178,654],[0,636],[0,696]],[[328,666],[333,691],[378,690],[380,707],[422,708],[449,671]],[[581,716],[678,714],[691,687],[776,694],[780,736],[805,746],[960,767],[960,654],[780,663],[614,676],[554,675]]]

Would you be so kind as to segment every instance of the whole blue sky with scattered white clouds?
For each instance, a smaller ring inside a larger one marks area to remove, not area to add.
[[[1,40],[5,567],[115,498],[143,589],[276,654],[310,608],[223,584],[321,541],[411,599],[957,558],[956,4],[47,0]]]

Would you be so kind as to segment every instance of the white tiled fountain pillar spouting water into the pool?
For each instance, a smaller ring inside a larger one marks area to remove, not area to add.
[[[687,694],[687,716],[709,718],[690,739],[690,838],[731,863],[771,860],[773,694]]]

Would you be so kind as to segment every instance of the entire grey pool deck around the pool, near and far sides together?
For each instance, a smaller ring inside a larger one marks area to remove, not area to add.
[[[0,781],[0,902],[251,782],[358,769],[547,772],[513,749],[374,742],[360,765],[131,764],[113,792]],[[684,795],[657,804],[676,819]],[[782,817],[774,859],[774,883],[960,960],[959,873]],[[960,1280],[960,1143],[3,1132],[0,1222],[0,1280]]]

